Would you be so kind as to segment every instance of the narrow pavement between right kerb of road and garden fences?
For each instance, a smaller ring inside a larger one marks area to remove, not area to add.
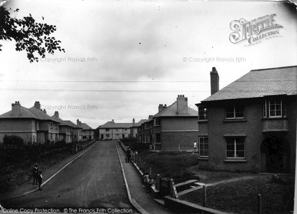
[[[126,162],[126,153],[117,144],[119,157],[122,161],[125,177],[131,194],[131,198],[149,214],[174,214],[174,212],[166,209],[163,205],[153,200],[150,194],[147,193],[146,187],[143,185],[139,172],[131,162]]]

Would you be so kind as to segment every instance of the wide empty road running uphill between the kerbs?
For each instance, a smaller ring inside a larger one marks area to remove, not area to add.
[[[42,191],[1,202],[9,207],[135,209],[129,203],[115,145],[99,142],[53,177]]]

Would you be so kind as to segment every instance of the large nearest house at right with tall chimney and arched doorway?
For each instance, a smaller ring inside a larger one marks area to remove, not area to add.
[[[296,163],[297,66],[256,69],[198,107],[199,167],[214,170],[293,172]]]

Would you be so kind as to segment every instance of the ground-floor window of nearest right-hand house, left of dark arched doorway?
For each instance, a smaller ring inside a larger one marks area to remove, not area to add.
[[[226,159],[245,159],[245,138],[226,138]]]

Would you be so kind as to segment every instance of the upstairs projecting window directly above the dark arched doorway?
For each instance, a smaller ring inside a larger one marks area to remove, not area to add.
[[[263,117],[286,117],[287,106],[282,99],[268,99],[263,104]]]

